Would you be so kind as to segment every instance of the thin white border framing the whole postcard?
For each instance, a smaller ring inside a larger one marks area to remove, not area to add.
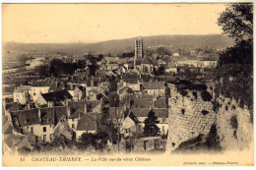
[[[254,2],[253,0],[1,0],[1,4],[2,3],[235,3],[235,2]],[[253,22],[255,23],[255,7],[254,7],[254,17],[253,17]],[[2,5],[0,8],[0,15],[1,15],[1,32],[2,32]],[[255,27],[254,27],[254,31],[255,31]],[[1,39],[2,39],[2,33],[1,33]],[[255,39],[255,35],[254,35],[254,39]],[[1,45],[1,57],[2,57],[2,40],[0,41],[0,45]],[[256,46],[254,45],[253,48],[254,51],[256,51]],[[255,59],[255,52],[253,55],[253,58]],[[0,88],[0,92],[2,93],[2,60],[0,60],[0,81],[1,81],[1,88]],[[255,66],[254,66],[254,75],[256,74],[255,71]],[[254,98],[255,98],[255,79],[253,80],[254,82]],[[2,99],[0,100],[0,105],[2,106]],[[254,100],[254,105],[255,105],[255,100]],[[2,109],[1,109],[2,110]],[[254,107],[254,113],[255,113],[255,107]],[[2,117],[0,118],[1,122],[2,122]],[[254,117],[254,137],[255,137],[255,117]],[[2,128],[1,129],[1,134],[2,134]],[[0,140],[2,142],[2,136],[0,137]],[[255,153],[255,146],[256,146],[256,142],[254,140],[254,153]],[[2,144],[0,144],[0,149],[2,150]],[[2,166],[2,154],[0,155],[0,159],[1,159],[1,166]],[[254,155],[254,163],[255,161],[255,155]],[[24,169],[24,170],[28,170],[28,169],[34,169],[36,168],[37,170],[44,170],[45,167],[0,167],[3,169]],[[255,165],[253,167],[249,167],[249,166],[240,166],[240,167],[175,167],[175,166],[171,166],[171,167],[46,167],[47,169],[50,170],[56,170],[56,169],[61,169],[61,170],[69,170],[70,168],[72,169],[89,169],[89,170],[98,170],[98,169],[105,169],[105,170],[112,170],[112,169],[124,169],[124,170],[130,170],[131,168],[134,170],[141,170],[141,169],[150,169],[150,170],[156,170],[161,169],[161,170],[167,170],[167,169],[180,169],[180,170],[185,170],[185,169],[191,169],[191,170],[198,170],[198,169],[208,169],[208,170],[220,170],[220,169],[227,169],[227,170],[251,170],[251,169],[255,169]]]

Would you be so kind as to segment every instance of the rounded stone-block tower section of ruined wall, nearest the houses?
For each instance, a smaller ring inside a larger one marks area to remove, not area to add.
[[[181,142],[196,138],[199,134],[208,135],[216,122],[217,114],[213,110],[213,103],[202,99],[201,91],[187,90],[187,95],[182,96],[175,85],[168,86],[171,96],[168,98],[167,149],[173,150]],[[197,92],[197,97],[192,94],[194,91]]]

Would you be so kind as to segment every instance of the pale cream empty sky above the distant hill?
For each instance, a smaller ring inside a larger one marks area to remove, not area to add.
[[[3,42],[92,43],[162,34],[219,34],[224,4],[4,4]]]

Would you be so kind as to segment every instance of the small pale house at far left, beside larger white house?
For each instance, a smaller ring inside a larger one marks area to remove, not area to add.
[[[16,86],[13,92],[14,102],[26,104],[30,100],[31,85]]]

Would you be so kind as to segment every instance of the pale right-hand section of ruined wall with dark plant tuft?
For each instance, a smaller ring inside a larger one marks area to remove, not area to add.
[[[243,150],[253,142],[253,124],[250,112],[239,107],[234,100],[220,96],[217,115],[217,131],[223,150]],[[252,149],[253,150],[253,149]]]

